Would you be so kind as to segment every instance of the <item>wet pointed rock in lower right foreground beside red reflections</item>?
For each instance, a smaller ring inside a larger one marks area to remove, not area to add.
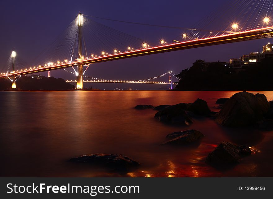
[[[240,158],[250,154],[251,150],[247,146],[221,142],[208,154],[205,162],[212,165],[230,165],[238,163]]]

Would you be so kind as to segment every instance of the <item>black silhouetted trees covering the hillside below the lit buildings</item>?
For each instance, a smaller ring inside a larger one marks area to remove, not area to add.
[[[273,60],[235,70],[228,64],[196,60],[192,67],[177,74],[177,90],[272,90]],[[226,66],[225,66],[226,65]]]

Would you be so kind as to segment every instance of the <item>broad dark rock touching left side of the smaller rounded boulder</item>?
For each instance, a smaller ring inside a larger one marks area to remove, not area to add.
[[[190,105],[185,103],[169,106],[157,112],[154,117],[165,123],[190,125],[190,123],[193,123],[193,119],[185,110],[188,106]]]

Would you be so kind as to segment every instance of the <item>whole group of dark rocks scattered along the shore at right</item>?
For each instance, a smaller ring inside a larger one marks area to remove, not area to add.
[[[209,117],[223,128],[255,128],[260,131],[273,130],[273,101],[268,102],[263,94],[253,95],[246,91],[235,93],[230,98],[220,98],[219,112],[211,111],[206,101],[196,99],[192,103],[176,105],[137,105],[135,109],[156,110],[154,118],[166,125],[190,126],[195,118]],[[217,133],[217,132],[216,132]],[[162,146],[198,147],[205,135],[197,129],[168,133]],[[213,167],[236,165],[241,158],[251,155],[251,146],[222,141],[208,153],[204,162]],[[114,171],[137,169],[140,163],[120,154],[91,154],[75,157],[72,162],[100,165]],[[109,167],[110,166],[110,167]]]

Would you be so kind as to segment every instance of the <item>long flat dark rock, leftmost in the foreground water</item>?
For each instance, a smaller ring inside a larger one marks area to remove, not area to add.
[[[105,166],[117,171],[128,171],[140,164],[127,156],[119,154],[91,154],[70,159],[71,162],[83,162],[93,165]]]

